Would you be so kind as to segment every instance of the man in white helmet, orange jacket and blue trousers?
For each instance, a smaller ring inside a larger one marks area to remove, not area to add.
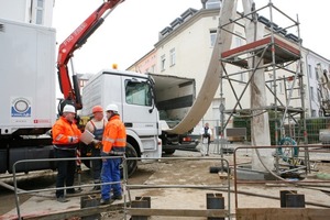
[[[125,127],[120,120],[118,106],[107,106],[107,119],[108,123],[103,132],[101,156],[123,156],[127,146],[127,131]],[[101,205],[110,204],[113,200],[122,199],[122,190],[120,184],[120,164],[121,157],[111,157],[102,160],[101,170]],[[105,185],[106,183],[116,183],[112,185]],[[111,188],[113,189],[113,196],[110,196]]]

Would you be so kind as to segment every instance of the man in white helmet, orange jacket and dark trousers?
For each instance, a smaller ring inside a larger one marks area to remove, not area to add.
[[[63,116],[55,122],[52,128],[53,144],[56,158],[75,158],[76,148],[81,135],[80,130],[75,123],[76,109],[72,105],[63,108]],[[56,188],[70,187],[74,185],[76,172],[75,161],[58,161]],[[66,190],[67,194],[75,194],[75,189]],[[64,189],[56,189],[56,198],[59,202],[68,201],[65,198]]]

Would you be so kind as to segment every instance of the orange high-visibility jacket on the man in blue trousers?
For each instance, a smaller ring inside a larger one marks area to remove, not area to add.
[[[127,146],[127,129],[119,116],[109,119],[102,139],[102,151],[107,154],[122,155]]]

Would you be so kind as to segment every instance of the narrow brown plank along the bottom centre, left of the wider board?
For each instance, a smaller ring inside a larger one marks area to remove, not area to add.
[[[166,216],[166,217],[228,217],[228,210],[208,209],[139,209],[128,208],[130,216]]]

